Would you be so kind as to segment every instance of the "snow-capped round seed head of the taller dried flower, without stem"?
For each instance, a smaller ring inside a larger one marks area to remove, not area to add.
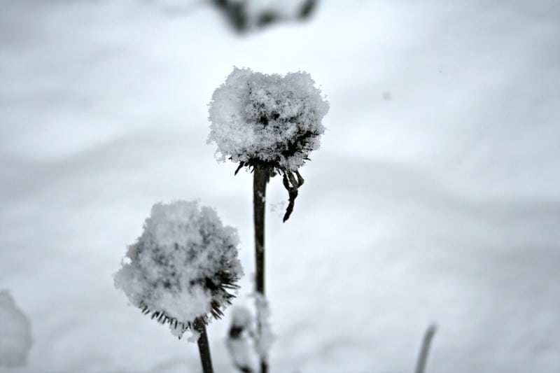
[[[219,161],[267,164],[295,171],[319,147],[328,102],[309,73],[267,75],[233,69],[214,91],[208,142]]]

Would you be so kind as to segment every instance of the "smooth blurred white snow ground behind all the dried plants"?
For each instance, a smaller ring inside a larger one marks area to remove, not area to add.
[[[152,204],[200,197],[247,302],[252,178],[206,143],[234,65],[330,101],[285,224],[269,184],[272,372],[412,372],[431,322],[430,373],[560,372],[558,1],[330,0],[240,36],[201,1],[0,0],[0,288],[34,338],[8,372],[200,372],[113,273]]]

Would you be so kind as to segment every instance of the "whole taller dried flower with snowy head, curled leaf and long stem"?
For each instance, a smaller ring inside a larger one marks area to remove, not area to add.
[[[265,198],[269,178],[282,176],[288,190],[286,222],[303,185],[300,167],[319,147],[325,132],[322,120],[329,109],[309,73],[298,71],[267,75],[234,68],[212,96],[208,142],[218,146],[218,161],[236,162],[237,171],[253,171],[253,219],[255,223],[256,324],[255,346],[260,372],[268,370],[267,352],[272,332],[265,298]],[[266,306],[266,307],[265,307]]]

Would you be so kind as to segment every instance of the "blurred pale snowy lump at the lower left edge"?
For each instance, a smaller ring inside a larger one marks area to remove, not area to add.
[[[7,290],[0,291],[0,366],[25,365],[32,343],[29,318]]]

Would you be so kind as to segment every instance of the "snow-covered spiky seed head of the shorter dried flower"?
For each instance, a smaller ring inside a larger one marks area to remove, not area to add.
[[[155,204],[144,232],[128,246],[116,288],[181,337],[195,319],[220,318],[243,275],[237,230],[224,227],[214,209],[178,201]]]

